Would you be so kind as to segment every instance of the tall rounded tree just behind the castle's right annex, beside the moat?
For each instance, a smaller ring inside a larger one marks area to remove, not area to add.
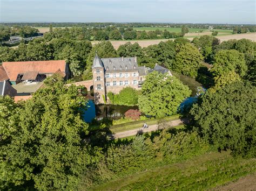
[[[181,44],[178,46],[173,70],[190,77],[196,77],[201,60],[203,60],[203,56],[196,47],[191,44]]]

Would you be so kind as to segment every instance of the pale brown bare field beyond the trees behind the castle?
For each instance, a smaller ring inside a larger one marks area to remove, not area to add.
[[[191,36],[193,33],[190,33],[189,36]],[[203,34],[203,33],[202,33]],[[200,36],[200,35],[199,35]],[[226,36],[217,36],[218,39],[220,39],[220,42],[225,41],[225,40],[230,40],[230,39],[242,39],[242,38],[246,38],[246,39],[250,39],[252,41],[256,41],[256,33],[246,33],[246,34],[231,34],[231,35],[226,35]],[[193,40],[193,38],[188,38],[190,40]],[[156,45],[158,43],[160,43],[160,41],[167,41],[170,39],[156,39],[156,40],[130,40],[130,42],[133,43],[138,43],[141,47],[147,47],[150,45]],[[174,40],[174,39],[172,39]],[[117,49],[120,45],[123,45],[125,43],[127,43],[128,41],[126,40],[117,40],[117,41],[113,41],[110,40],[110,42],[112,43],[113,47],[115,49]],[[98,43],[98,41],[92,41],[92,44],[96,44]]]

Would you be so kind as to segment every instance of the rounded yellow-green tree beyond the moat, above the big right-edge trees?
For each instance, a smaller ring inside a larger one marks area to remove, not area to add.
[[[215,54],[211,72],[214,76],[234,71],[241,77],[246,74],[247,66],[244,54],[232,49],[222,50]]]

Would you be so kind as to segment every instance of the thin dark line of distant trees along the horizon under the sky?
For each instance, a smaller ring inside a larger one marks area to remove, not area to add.
[[[72,27],[72,26],[82,26],[82,27],[106,27],[106,26],[116,26],[116,27],[151,27],[151,26],[169,26],[169,27],[182,27],[186,25],[188,28],[202,28],[208,29],[208,27],[214,27],[214,29],[234,29],[234,27],[255,27],[255,25],[241,25],[241,24],[211,24],[211,23],[2,23],[5,26],[34,26],[34,27]]]

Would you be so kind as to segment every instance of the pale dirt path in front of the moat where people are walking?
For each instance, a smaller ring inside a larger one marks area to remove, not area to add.
[[[185,119],[186,120],[186,119]],[[168,126],[178,126],[178,125],[182,125],[183,124],[184,119],[177,119],[177,120],[173,120],[168,124]],[[133,135],[137,135],[137,133],[145,133],[145,132],[151,132],[151,131],[156,131],[158,129],[162,129],[158,126],[158,124],[154,124],[154,125],[149,125],[149,128],[147,129],[143,129],[143,128],[138,128],[138,129],[132,129],[129,131],[123,131],[123,132],[117,132],[114,133],[111,137],[111,139],[118,139],[118,138],[124,138],[124,137],[129,137],[129,136],[133,136]]]

